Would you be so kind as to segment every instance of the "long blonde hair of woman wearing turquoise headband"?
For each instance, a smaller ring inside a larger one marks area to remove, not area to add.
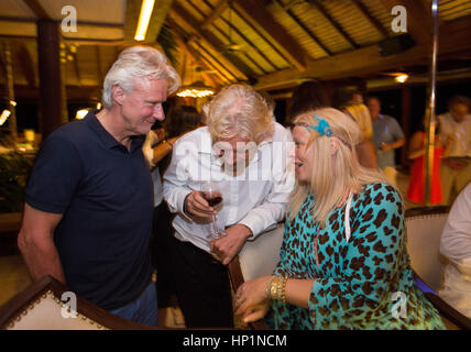
[[[354,147],[361,141],[362,133],[358,124],[343,112],[333,108],[311,110],[295,117],[293,122],[318,125],[314,112],[329,123],[333,136],[319,136],[315,130],[307,130],[311,134],[309,139],[311,143],[306,147],[313,148],[315,167],[309,183],[296,180],[288,205],[288,216],[293,220],[306,197],[314,194],[315,204],[310,209],[313,219],[324,227],[328,215],[341,202],[346,190],[361,191],[368,184],[377,182],[388,184],[388,180],[377,169],[363,167],[358,162]],[[333,154],[330,152],[332,138],[337,138],[339,142]]]

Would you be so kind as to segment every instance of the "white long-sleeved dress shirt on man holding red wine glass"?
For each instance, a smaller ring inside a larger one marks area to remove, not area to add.
[[[295,183],[294,163],[288,155],[294,143],[288,130],[274,124],[273,136],[258,145],[239,176],[223,172],[206,127],[185,134],[174,144],[172,163],[164,175],[164,199],[169,210],[177,212],[173,221],[177,239],[209,252],[211,224],[197,223],[183,211],[186,196],[201,190],[209,179],[218,180],[222,194],[222,207],[217,215],[219,228],[244,224],[252,231],[249,239],[253,239],[284,219]]]

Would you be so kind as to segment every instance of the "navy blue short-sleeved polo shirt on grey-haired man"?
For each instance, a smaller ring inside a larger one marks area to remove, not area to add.
[[[26,204],[63,218],[54,242],[67,286],[103,309],[135,299],[151,283],[153,185],[143,138],[128,151],[94,112],[42,144]]]

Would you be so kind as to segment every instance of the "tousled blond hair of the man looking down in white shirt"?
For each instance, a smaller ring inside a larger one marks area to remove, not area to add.
[[[213,141],[241,136],[259,144],[274,133],[265,100],[247,85],[221,89],[202,110]]]

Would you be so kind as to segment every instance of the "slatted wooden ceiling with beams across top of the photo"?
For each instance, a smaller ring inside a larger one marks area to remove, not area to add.
[[[426,77],[431,0],[156,0],[145,44],[156,45],[165,24],[176,42],[175,66],[185,85],[219,88],[247,81],[259,90],[289,89],[305,79],[390,79],[410,69]],[[394,6],[407,10],[412,48],[381,56],[392,38]],[[39,87],[36,25],[61,23],[66,6],[77,11],[77,31],[62,32],[63,79],[69,99],[99,97],[103,76],[133,35],[141,0],[2,0],[0,41],[12,52],[19,95]],[[453,61],[470,77],[471,0],[440,1],[441,63]],[[2,68],[4,62],[0,61]],[[445,67],[445,66],[443,66]],[[418,76],[417,76],[418,77]],[[417,78],[418,79],[418,78]],[[4,75],[0,85],[4,86]]]

